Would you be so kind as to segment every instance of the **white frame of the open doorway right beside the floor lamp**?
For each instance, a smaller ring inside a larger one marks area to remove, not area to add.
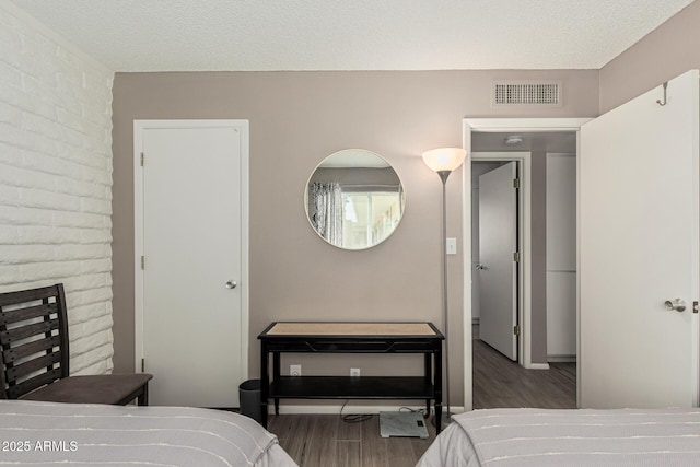
[[[580,153],[580,130],[581,126],[586,121],[590,121],[591,118],[465,118],[463,120],[463,148],[466,149],[467,154],[469,156],[468,163],[465,164],[465,170],[463,170],[462,174],[462,184],[465,187],[462,191],[462,206],[463,206],[463,215],[462,215],[462,235],[464,238],[465,245],[471,245],[471,132],[509,132],[509,131],[517,131],[517,132],[534,132],[534,131],[574,131],[576,132],[576,154]],[[468,187],[468,188],[467,188]],[[529,241],[525,241],[525,249],[523,252],[523,257],[528,258],[530,252],[528,250]],[[579,247],[576,242],[576,258],[579,258]],[[576,259],[578,262],[578,259]],[[463,308],[463,339],[464,339],[464,408],[465,410],[474,409],[474,376],[472,376],[472,352],[471,352],[471,248],[465,248],[465,258],[463,261],[464,267],[464,283],[463,283],[463,294],[464,294],[464,308]],[[527,296],[530,295],[530,291],[527,289],[529,287],[529,281],[524,284],[525,289],[523,290],[523,294]],[[576,284],[578,289],[578,284]],[[579,339],[579,297],[576,292],[576,347],[580,345]],[[523,307],[523,325],[529,324],[532,319],[532,310],[527,306],[527,301],[525,301],[525,306]],[[525,340],[526,342],[530,341],[529,336],[530,329],[527,326],[526,329],[521,334],[521,341]],[[532,353],[526,348],[524,353],[524,366],[532,367]],[[530,366],[528,366],[530,365]],[[581,370],[578,369],[579,373]],[[580,401],[580,381],[581,375],[576,374],[576,405]]]

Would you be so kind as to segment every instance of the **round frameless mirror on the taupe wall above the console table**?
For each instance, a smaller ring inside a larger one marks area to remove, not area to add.
[[[322,161],[306,183],[308,222],[329,244],[364,249],[384,242],[404,214],[404,188],[384,157],[346,149]]]

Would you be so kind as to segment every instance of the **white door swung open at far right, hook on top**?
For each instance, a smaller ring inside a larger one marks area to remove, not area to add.
[[[698,71],[657,100],[661,86],[581,131],[582,407],[698,404]]]

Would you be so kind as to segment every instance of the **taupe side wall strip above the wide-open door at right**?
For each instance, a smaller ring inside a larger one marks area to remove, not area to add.
[[[600,69],[600,114],[695,68],[700,68],[697,0]],[[661,93],[660,87],[660,98]]]

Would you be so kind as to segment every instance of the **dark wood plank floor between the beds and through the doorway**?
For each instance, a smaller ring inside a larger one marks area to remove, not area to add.
[[[525,370],[481,340],[472,343],[475,408],[575,408],[575,363]],[[434,427],[427,425],[430,437],[420,440],[383,439],[378,416],[347,423],[339,415],[280,415],[270,416],[268,422],[269,431],[301,467],[415,466],[435,439]]]

